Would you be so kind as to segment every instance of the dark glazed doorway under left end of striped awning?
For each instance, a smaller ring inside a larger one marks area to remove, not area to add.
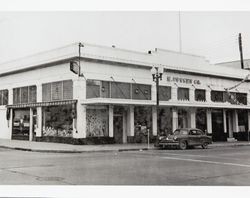
[[[30,109],[13,109],[12,139],[29,140]]]

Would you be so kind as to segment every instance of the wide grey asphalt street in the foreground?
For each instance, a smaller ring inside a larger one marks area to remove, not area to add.
[[[0,149],[0,184],[250,186],[250,146],[103,153]]]

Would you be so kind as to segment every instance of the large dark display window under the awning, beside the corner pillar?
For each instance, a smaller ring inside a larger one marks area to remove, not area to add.
[[[72,137],[72,105],[43,108],[43,136]]]

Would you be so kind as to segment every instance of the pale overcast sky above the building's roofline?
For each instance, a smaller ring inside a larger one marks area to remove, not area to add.
[[[182,51],[211,63],[250,58],[250,12],[180,12]],[[74,42],[179,51],[179,12],[1,12],[0,63]]]

